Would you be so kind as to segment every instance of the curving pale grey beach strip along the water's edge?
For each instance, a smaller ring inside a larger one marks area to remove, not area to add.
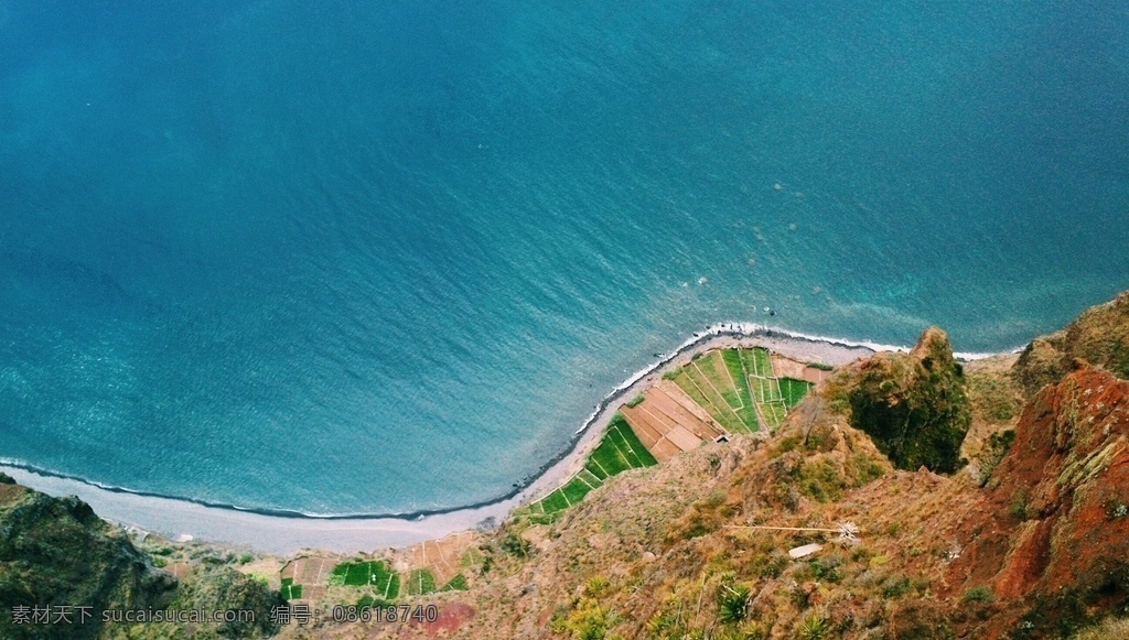
[[[517,489],[492,500],[449,509],[387,515],[312,515],[281,509],[247,509],[106,486],[16,461],[0,461],[0,471],[20,484],[44,493],[78,496],[104,519],[154,531],[169,540],[189,535],[192,540],[250,546],[280,554],[301,549],[344,553],[403,547],[461,531],[490,528],[516,507],[551,492],[584,465],[585,458],[603,436],[603,426],[611,421],[620,404],[650,386],[663,370],[682,366],[697,353],[736,345],[765,347],[796,360],[815,360],[833,366],[876,351],[908,350],[904,347],[805,335],[752,323],[725,322],[707,326],[614,387],[574,431],[569,445],[535,473],[523,479]],[[992,354],[956,356],[972,360]],[[597,428],[593,429],[593,426]]]

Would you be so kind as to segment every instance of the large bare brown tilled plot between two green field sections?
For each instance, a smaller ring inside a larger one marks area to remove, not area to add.
[[[620,407],[623,418],[655,459],[664,462],[725,433],[679,385],[660,380],[634,406]]]

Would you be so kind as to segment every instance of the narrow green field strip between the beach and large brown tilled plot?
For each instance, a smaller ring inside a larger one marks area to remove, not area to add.
[[[522,509],[518,514],[532,521],[551,523],[557,516],[576,505],[589,491],[602,485],[609,477],[629,468],[658,464],[655,456],[639,441],[623,415],[616,413],[609,424],[599,446],[588,456],[584,468],[563,486]]]

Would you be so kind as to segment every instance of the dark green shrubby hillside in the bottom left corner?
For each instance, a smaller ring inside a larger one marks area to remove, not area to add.
[[[0,638],[260,637],[277,630],[269,613],[281,602],[265,585],[207,559],[178,581],[87,503],[0,474]],[[49,617],[18,622],[15,613],[32,607]],[[90,616],[80,623],[84,607]],[[102,623],[107,611],[240,608],[253,610],[255,621]]]

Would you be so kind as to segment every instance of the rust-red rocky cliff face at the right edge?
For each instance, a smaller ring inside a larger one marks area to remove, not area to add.
[[[1084,362],[1026,405],[962,526],[953,589],[999,600],[986,637],[1054,637],[1129,605],[1129,383]]]

